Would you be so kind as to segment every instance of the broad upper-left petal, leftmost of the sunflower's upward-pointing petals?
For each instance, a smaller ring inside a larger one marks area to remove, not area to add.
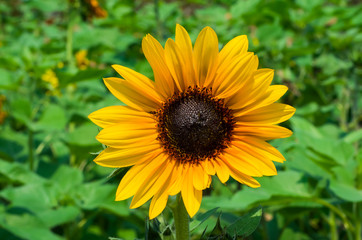
[[[156,89],[163,100],[166,100],[173,95],[175,86],[165,61],[164,49],[154,37],[148,34],[142,40],[142,50],[153,69]]]

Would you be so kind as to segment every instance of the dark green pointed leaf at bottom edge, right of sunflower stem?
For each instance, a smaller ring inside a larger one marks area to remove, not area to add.
[[[263,210],[261,207],[250,211],[227,226],[226,232],[231,236],[250,236],[259,226],[262,213]]]

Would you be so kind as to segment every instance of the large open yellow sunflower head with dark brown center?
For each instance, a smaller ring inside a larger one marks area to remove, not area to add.
[[[274,71],[258,69],[245,35],[221,51],[216,33],[205,27],[192,46],[176,26],[165,47],[147,35],[142,50],[155,81],[113,65],[123,77],[105,78],[109,91],[127,106],[105,107],[89,115],[103,128],[97,140],[108,146],[94,160],[105,167],[132,166],[121,180],[116,201],[133,196],[130,208],[148,200],[150,218],[181,192],[190,217],[200,208],[211,176],[229,177],[252,188],[253,177],[276,175],[273,161],[284,157],[267,140],[289,137],[277,126],[295,109],[275,103],[286,86],[270,85]]]

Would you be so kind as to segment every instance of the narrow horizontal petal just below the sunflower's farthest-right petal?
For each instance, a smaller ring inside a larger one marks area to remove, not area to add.
[[[276,125],[247,126],[237,124],[233,130],[236,136],[255,136],[264,140],[290,137],[293,132],[287,128]]]

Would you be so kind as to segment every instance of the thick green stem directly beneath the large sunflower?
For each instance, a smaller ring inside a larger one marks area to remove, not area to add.
[[[190,239],[190,218],[182,200],[181,193],[177,195],[176,206],[172,208],[172,212],[175,220],[176,240]]]

